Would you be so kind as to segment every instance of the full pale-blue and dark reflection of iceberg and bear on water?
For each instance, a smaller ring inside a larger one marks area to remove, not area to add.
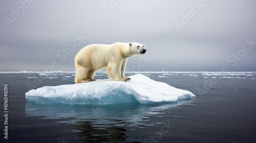
[[[75,124],[72,132],[84,142],[122,142],[131,130],[154,126],[153,116],[163,117],[179,105],[191,104],[183,100],[173,104],[114,104],[114,105],[66,105],[27,103],[26,116],[55,119],[56,124]],[[151,121],[152,120],[152,121]]]

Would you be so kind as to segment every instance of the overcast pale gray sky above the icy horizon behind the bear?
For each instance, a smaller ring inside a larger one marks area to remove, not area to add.
[[[0,71],[75,71],[82,47],[118,41],[146,44],[127,71],[256,71],[255,7],[253,0],[0,1]]]

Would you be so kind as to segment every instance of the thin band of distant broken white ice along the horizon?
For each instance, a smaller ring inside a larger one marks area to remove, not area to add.
[[[0,71],[0,74],[38,74],[40,78],[46,79],[54,79],[61,76],[61,79],[74,77],[75,71]],[[131,76],[134,74],[142,74],[145,76],[154,75],[154,77],[166,78],[171,76],[192,76],[195,78],[202,77],[204,79],[207,78],[223,78],[223,79],[246,79],[248,76],[253,76],[251,78],[255,78],[256,71],[125,71],[127,76]],[[26,78],[37,78],[37,75],[34,76],[25,76]],[[65,77],[67,76],[67,77]],[[107,76],[105,71],[97,71],[94,75],[95,77],[99,76]],[[60,77],[59,77],[60,78]],[[179,77],[182,79],[182,77]],[[249,78],[248,78],[249,79]]]

